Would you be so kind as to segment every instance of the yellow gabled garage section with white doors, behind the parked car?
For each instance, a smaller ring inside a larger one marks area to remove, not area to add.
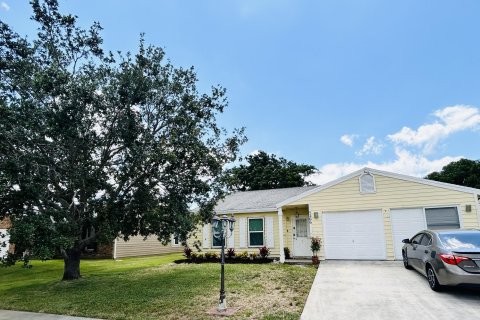
[[[480,190],[364,168],[277,204],[307,207],[323,259],[401,259],[424,229],[480,228]]]

